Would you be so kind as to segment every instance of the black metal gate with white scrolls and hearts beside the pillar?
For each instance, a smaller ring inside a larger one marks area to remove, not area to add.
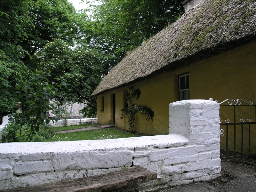
[[[220,159],[255,156],[256,105],[252,101],[226,99],[220,102],[220,118],[225,119],[225,123],[220,119],[220,148],[224,152]]]

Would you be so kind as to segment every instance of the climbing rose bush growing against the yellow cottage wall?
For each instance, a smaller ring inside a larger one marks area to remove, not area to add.
[[[132,130],[132,132],[135,132],[134,127],[134,121],[135,121],[135,115],[136,113],[140,113],[142,116],[146,116],[146,120],[153,121],[154,117],[154,111],[152,111],[150,108],[146,107],[145,105],[138,105],[134,103],[139,97],[140,97],[140,90],[139,89],[133,89],[133,87],[128,87],[128,106],[127,103],[124,103],[124,109],[122,109],[122,113],[120,118],[123,119],[124,117],[128,117],[128,124]]]

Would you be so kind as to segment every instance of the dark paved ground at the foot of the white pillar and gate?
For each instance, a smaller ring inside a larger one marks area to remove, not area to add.
[[[154,192],[256,192],[256,157],[222,161],[221,170],[222,176],[216,180]]]

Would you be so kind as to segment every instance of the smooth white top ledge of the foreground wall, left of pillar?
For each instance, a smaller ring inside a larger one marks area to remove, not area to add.
[[[65,153],[88,150],[118,149],[118,148],[154,148],[176,147],[188,144],[188,139],[179,134],[131,137],[108,140],[58,141],[34,143],[0,143],[0,154],[20,153]],[[8,155],[7,155],[8,156]]]

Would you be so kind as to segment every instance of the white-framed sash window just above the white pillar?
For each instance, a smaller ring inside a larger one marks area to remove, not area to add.
[[[179,76],[179,95],[180,100],[189,99],[189,74],[183,74]]]

